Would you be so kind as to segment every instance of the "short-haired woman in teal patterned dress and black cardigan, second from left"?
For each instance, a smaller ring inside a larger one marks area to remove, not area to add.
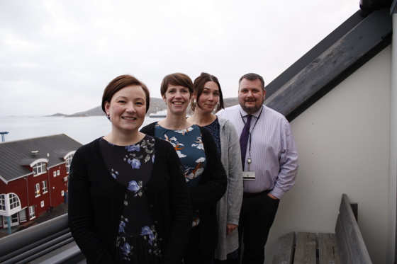
[[[184,263],[211,263],[218,241],[216,202],[225,193],[225,170],[208,130],[186,120],[193,82],[186,74],[169,74],[160,92],[167,104],[167,117],[143,127],[141,132],[160,137],[174,146],[184,168],[193,211],[191,236]]]

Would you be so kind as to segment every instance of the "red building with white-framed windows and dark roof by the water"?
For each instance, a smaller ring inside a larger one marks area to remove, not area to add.
[[[81,146],[65,134],[0,143],[0,229],[67,200],[70,162]]]

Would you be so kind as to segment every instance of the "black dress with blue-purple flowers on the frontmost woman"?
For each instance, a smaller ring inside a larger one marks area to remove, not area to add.
[[[111,176],[127,188],[116,243],[117,263],[160,263],[162,252],[145,195],[155,163],[155,139],[116,146],[100,139],[101,154]]]

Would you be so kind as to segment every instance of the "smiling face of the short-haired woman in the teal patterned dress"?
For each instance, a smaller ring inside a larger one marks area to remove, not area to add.
[[[163,99],[167,104],[167,113],[186,115],[186,108],[189,105],[191,93],[189,88],[169,84]]]

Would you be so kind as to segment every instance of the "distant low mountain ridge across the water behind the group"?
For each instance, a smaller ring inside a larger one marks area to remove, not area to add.
[[[232,105],[238,104],[238,98],[224,98],[225,107],[229,107]],[[147,110],[146,115],[150,115],[150,113],[156,113],[157,111],[164,110],[167,108],[167,105],[161,98],[150,98],[150,108]],[[189,111],[190,108],[188,108]],[[92,108],[90,110],[86,110],[84,112],[74,113],[72,115],[64,115],[61,113],[56,113],[51,116],[65,116],[65,117],[87,117],[87,116],[101,116],[105,115],[104,111],[102,111],[101,105],[97,106],[96,108]]]

